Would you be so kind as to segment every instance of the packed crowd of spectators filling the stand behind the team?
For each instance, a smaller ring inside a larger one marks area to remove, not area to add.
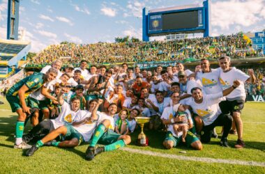
[[[262,49],[252,49],[242,34],[236,34],[173,41],[50,45],[29,60],[29,64],[49,64],[61,57],[70,57],[64,60],[65,64],[78,64],[82,59],[89,63],[183,61],[215,59],[223,54],[231,58],[264,56]]]

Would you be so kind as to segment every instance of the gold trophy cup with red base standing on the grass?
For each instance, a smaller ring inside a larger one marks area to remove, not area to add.
[[[149,117],[136,117],[135,120],[141,127],[141,133],[138,135],[137,144],[140,146],[149,145],[149,140],[144,134],[144,123],[149,122],[150,118]]]

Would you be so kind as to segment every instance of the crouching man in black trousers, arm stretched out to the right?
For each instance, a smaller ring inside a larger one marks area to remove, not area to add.
[[[224,96],[232,93],[234,89],[239,87],[240,81],[234,81],[233,85],[219,93],[204,95],[202,88],[194,87],[191,89],[192,98],[186,104],[190,105],[192,111],[196,114],[194,117],[196,122],[197,134],[202,134],[202,142],[209,143],[211,141],[211,134],[213,128],[216,126],[223,126],[224,131],[220,145],[229,147],[227,136],[232,127],[232,117],[229,114],[222,113],[219,102],[223,100]]]

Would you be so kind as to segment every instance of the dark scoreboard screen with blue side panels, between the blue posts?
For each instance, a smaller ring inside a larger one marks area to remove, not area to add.
[[[187,10],[172,13],[149,13],[148,33],[170,33],[204,29],[203,9]]]

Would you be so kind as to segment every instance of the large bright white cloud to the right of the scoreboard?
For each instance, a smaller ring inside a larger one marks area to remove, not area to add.
[[[263,0],[217,1],[212,3],[211,24],[221,29],[229,29],[233,24],[251,26],[261,20],[257,15],[264,6]]]

